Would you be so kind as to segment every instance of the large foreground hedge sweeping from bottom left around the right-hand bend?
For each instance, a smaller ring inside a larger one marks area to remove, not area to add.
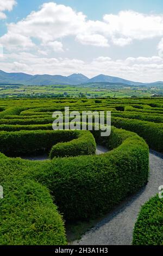
[[[99,138],[98,131],[95,137]],[[64,224],[47,188],[64,219],[74,221],[104,214],[146,184],[148,147],[143,139],[112,127],[111,136],[103,143],[110,149],[117,148],[101,156],[43,162],[10,159],[1,154],[4,199],[0,205],[4,214],[0,217],[0,243],[66,243]]]

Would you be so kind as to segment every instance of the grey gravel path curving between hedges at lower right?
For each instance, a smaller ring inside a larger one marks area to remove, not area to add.
[[[97,147],[98,153],[105,152]],[[102,152],[103,151],[103,152]],[[149,198],[158,193],[163,185],[163,155],[150,151],[149,182],[139,193],[128,197],[108,214],[95,228],[92,228],[80,241],[72,245],[131,245],[134,224],[143,205]]]

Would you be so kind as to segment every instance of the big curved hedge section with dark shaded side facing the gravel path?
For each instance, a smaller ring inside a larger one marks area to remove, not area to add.
[[[57,158],[32,169],[30,177],[49,188],[65,220],[102,215],[147,183],[145,141],[114,127],[108,140],[110,148],[118,148],[100,156]]]

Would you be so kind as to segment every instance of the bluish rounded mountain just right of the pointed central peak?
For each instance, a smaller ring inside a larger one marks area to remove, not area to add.
[[[140,84],[143,84],[143,83],[139,83],[139,82],[132,82],[129,80],[125,80],[125,79],[122,79],[119,77],[105,76],[105,75],[95,76],[95,77],[91,78],[89,80],[89,82],[93,82],[93,83],[95,83],[95,82],[125,83],[125,84],[128,84],[129,86],[138,86]]]

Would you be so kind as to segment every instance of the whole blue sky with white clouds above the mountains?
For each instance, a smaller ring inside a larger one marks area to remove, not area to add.
[[[0,70],[163,81],[163,1],[0,0]]]

